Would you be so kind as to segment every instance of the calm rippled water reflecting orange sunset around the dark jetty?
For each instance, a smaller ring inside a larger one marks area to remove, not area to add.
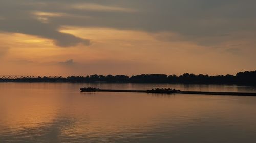
[[[86,86],[0,83],[0,142],[256,142],[256,97],[80,93]],[[230,85],[91,86],[256,92]]]

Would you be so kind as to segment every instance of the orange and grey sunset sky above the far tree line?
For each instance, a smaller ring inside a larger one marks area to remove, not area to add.
[[[0,75],[256,69],[254,0],[1,0]]]

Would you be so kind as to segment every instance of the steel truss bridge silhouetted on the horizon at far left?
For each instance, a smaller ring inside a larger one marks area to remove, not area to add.
[[[22,78],[62,78],[62,76],[41,76],[41,75],[0,75],[0,79],[22,79]]]

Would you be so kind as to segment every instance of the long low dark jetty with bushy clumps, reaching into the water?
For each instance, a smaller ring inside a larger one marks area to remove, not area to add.
[[[203,94],[203,95],[231,95],[231,96],[256,96],[256,93],[249,92],[206,92],[206,91],[181,91],[176,89],[151,89],[151,90],[113,90],[99,88],[81,88],[81,92],[137,92],[137,93],[161,93],[161,94]]]

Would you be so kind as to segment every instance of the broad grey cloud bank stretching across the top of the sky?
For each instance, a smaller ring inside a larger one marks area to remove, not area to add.
[[[3,0],[0,30],[49,38],[62,47],[89,45],[90,40],[61,33],[61,26],[174,32],[181,40],[213,45],[229,33],[255,32],[255,5],[251,0]],[[34,11],[62,15],[38,17]]]

